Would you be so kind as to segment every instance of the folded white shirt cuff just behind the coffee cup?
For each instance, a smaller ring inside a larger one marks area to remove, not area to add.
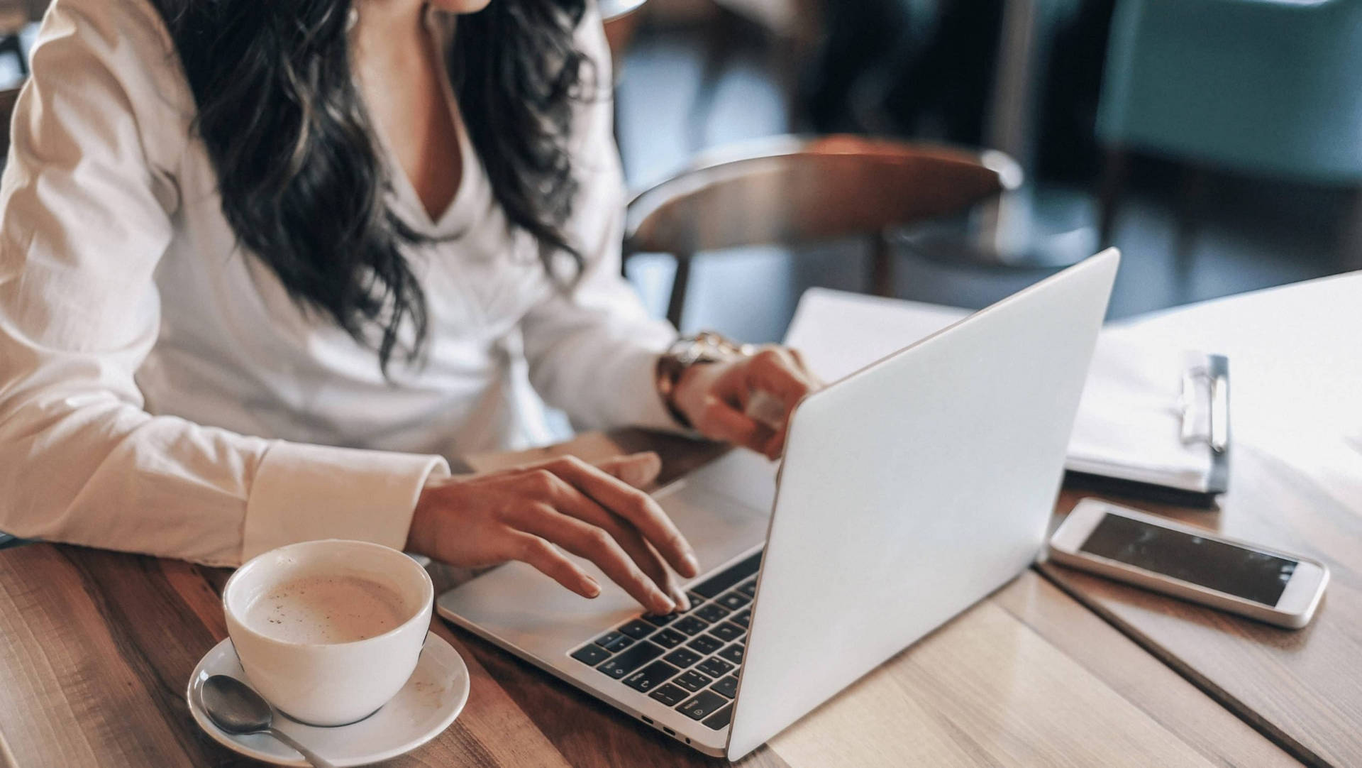
[[[241,532],[241,561],[315,539],[355,539],[402,549],[440,456],[274,441],[256,470]]]

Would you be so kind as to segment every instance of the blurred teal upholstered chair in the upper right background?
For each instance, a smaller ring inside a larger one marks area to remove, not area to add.
[[[1096,129],[1103,242],[1132,150],[1362,187],[1362,0],[1117,0]]]

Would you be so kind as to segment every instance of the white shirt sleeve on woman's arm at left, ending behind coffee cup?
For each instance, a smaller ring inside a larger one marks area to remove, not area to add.
[[[176,63],[143,0],[44,22],[0,184],[0,530],[217,565],[328,537],[400,547],[443,459],[143,410],[192,113]]]

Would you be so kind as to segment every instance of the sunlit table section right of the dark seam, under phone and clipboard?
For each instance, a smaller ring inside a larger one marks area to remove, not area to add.
[[[1179,308],[1117,331],[1230,357],[1230,493],[1141,508],[1314,557],[1310,626],[1283,630],[1058,566],[1045,573],[1312,764],[1362,765],[1362,272]],[[1068,512],[1072,497],[1061,500]]]

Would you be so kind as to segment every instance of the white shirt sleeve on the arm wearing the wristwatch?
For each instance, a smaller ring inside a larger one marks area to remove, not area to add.
[[[610,52],[595,3],[587,4],[577,45],[594,67],[573,128],[580,188],[567,230],[582,249],[586,271],[575,291],[554,291],[522,321],[530,383],[580,426],[676,430],[655,383],[658,354],[676,339],[676,330],[648,317],[620,274],[624,176],[613,131]]]

